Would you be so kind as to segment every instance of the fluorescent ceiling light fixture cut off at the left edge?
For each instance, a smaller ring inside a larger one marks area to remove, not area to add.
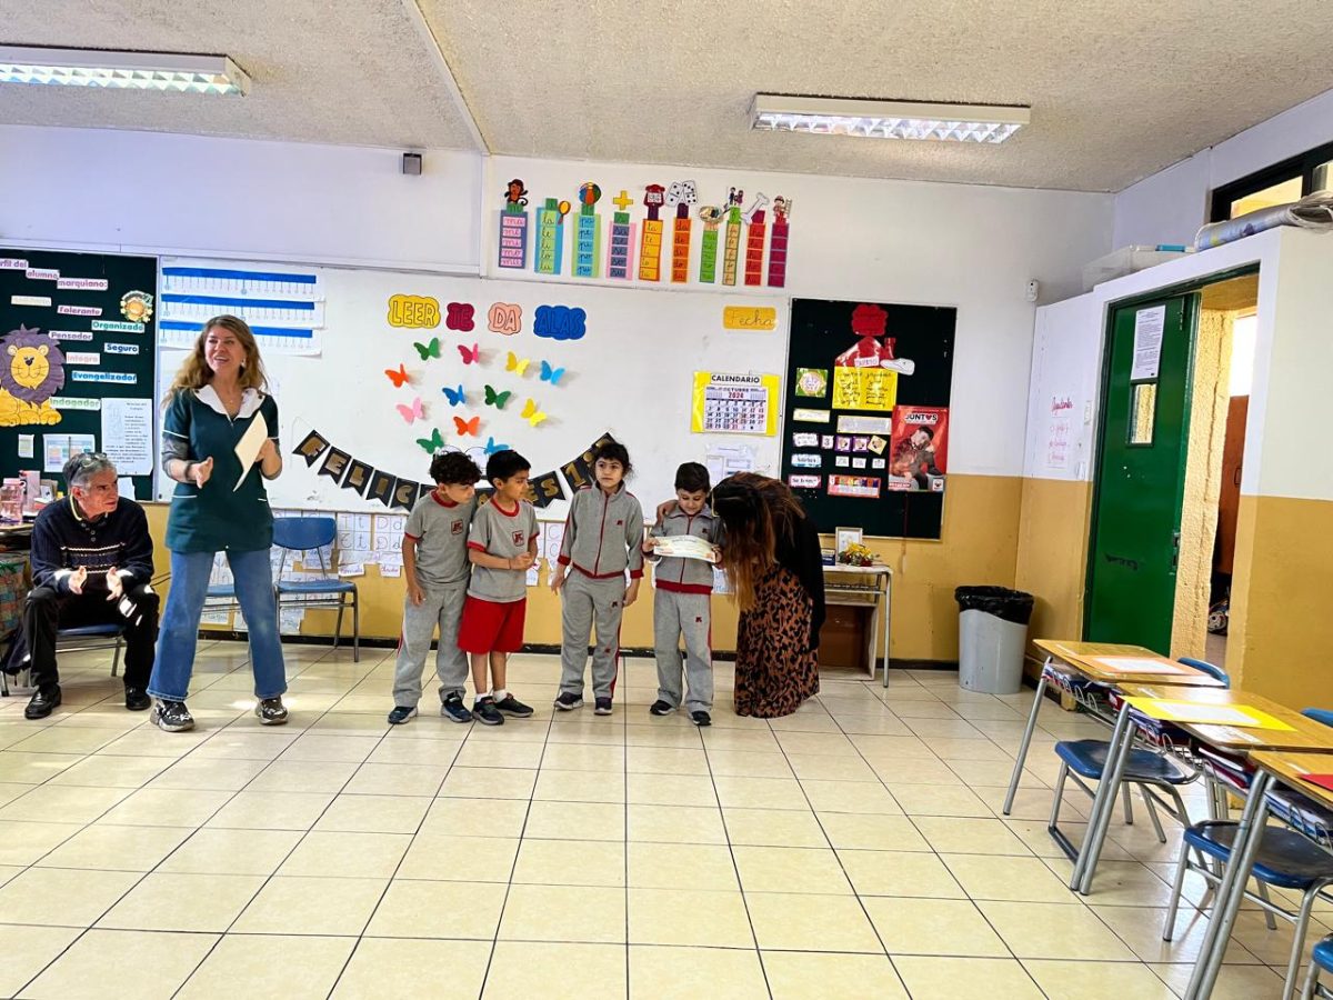
[[[241,96],[249,91],[245,71],[228,56],[25,45],[0,45],[0,83]]]

